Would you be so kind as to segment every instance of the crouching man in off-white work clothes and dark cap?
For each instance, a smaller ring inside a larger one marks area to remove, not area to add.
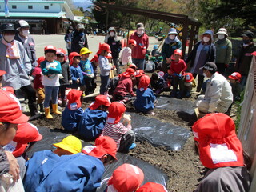
[[[210,81],[207,82],[206,94],[200,95],[196,101],[198,110],[202,113],[226,113],[233,102],[230,83],[222,74],[216,73],[217,66],[214,62],[207,62],[200,69]]]

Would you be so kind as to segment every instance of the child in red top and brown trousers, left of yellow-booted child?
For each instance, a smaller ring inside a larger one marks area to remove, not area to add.
[[[34,90],[37,91],[37,95],[38,95],[38,105],[40,107],[40,112],[43,112],[43,101],[45,100],[45,89],[44,86],[42,85],[42,69],[41,69],[41,62],[43,62],[46,58],[45,57],[40,57],[38,58],[37,62],[38,62],[38,66],[36,66],[34,68],[34,70],[32,71],[32,77],[34,78]]]

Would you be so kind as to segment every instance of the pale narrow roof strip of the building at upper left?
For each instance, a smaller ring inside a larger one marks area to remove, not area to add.
[[[9,16],[14,18],[26,17],[26,18],[61,18],[65,15],[65,12],[59,13],[23,13],[23,12],[10,12]],[[0,12],[0,17],[5,17],[4,12]]]

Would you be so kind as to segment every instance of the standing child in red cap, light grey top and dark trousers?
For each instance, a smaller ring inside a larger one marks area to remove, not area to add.
[[[110,67],[109,60],[106,58],[107,54],[111,53],[110,46],[106,43],[100,45],[98,54],[98,66],[101,70],[101,87],[99,94],[108,94],[108,86],[110,83],[110,70],[114,70],[114,67]]]

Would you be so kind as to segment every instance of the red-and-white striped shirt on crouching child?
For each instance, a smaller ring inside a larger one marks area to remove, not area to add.
[[[109,136],[110,138],[113,138],[114,141],[117,143],[118,149],[120,145],[120,141],[123,134],[126,134],[128,130],[131,130],[131,125],[124,126],[122,122],[118,122],[117,124],[110,124],[106,122],[102,135],[103,136]]]

